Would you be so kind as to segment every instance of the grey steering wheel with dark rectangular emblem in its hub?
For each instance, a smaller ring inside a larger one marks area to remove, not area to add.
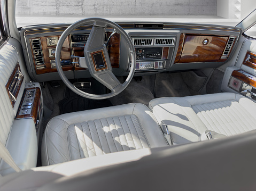
[[[88,69],[91,76],[106,86],[108,89],[110,89],[111,93],[96,95],[83,92],[80,89],[77,89],[71,84],[71,82],[68,81],[61,68],[60,51],[65,39],[74,29],[86,24],[92,24],[92,29],[86,46],[84,47],[84,57],[79,57],[79,67]],[[105,30],[107,26],[112,27],[116,32],[122,35],[130,49],[131,67],[128,77],[126,81],[123,82],[123,84],[120,83],[120,81],[117,79],[117,77],[114,76],[112,72],[110,57],[108,56],[107,48],[104,44]],[[128,86],[135,72],[135,56],[135,49],[130,37],[126,31],[123,30],[118,24],[102,18],[88,18],[71,24],[71,26],[69,26],[63,32],[56,46],[55,61],[60,78],[73,92],[90,99],[106,99],[118,95]]]

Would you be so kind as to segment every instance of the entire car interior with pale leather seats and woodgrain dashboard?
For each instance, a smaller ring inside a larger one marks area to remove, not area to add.
[[[255,190],[255,10],[17,28],[0,2],[0,190]]]

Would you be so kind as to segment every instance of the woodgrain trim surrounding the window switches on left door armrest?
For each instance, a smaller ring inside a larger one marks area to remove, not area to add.
[[[38,106],[40,104],[40,96],[41,96],[41,90],[40,88],[36,87],[36,88],[27,88],[24,90],[24,94],[22,96],[22,99],[21,99],[21,104],[24,100],[24,97],[25,97],[25,94],[26,94],[26,91],[28,89],[36,89],[36,93],[35,93],[35,98],[34,98],[34,103],[33,103],[33,107],[32,107],[32,111],[31,111],[31,114],[26,114],[26,115],[17,115],[16,119],[21,119],[21,118],[33,118],[34,122],[36,123],[36,117],[37,117],[37,109],[38,109]],[[20,109],[21,109],[21,105],[20,104],[20,107],[19,107],[19,110],[18,110],[18,113],[20,112]]]

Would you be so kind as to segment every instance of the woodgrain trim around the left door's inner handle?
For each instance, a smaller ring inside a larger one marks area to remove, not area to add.
[[[20,74],[20,79],[15,80],[15,77],[17,77],[17,72]],[[15,102],[16,102],[16,99],[18,97],[20,87],[22,85],[23,80],[24,80],[24,76],[20,71],[20,64],[17,63],[16,67],[12,71],[12,74],[11,74],[9,80],[7,81],[7,83],[5,85],[7,94],[9,95],[9,99],[10,99],[10,102],[12,104],[12,107],[14,107],[14,105],[15,105]],[[15,83],[15,82],[17,82],[19,84],[16,84],[18,87],[16,87],[14,95],[11,95],[11,93],[10,93],[11,90],[9,88],[10,88],[10,86],[14,86],[14,84],[12,84],[12,83]]]

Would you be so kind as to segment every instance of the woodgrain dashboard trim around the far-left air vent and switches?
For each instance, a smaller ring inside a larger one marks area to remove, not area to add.
[[[36,74],[43,74],[43,73],[50,73],[50,72],[57,72],[56,68],[52,68],[51,67],[51,60],[55,60],[55,57],[49,57],[49,48],[56,48],[56,46],[48,46],[47,45],[47,41],[46,38],[47,37],[58,37],[59,36],[46,36],[46,37],[38,37],[41,40],[41,46],[42,46],[42,53],[43,53],[43,58],[44,58],[44,67],[45,68],[41,68],[41,69],[37,69],[36,68],[36,62],[35,62],[35,57],[33,54],[33,47],[32,47],[32,41],[33,39],[38,39],[38,38],[30,38],[30,49],[32,51],[32,57],[33,57],[33,62],[34,62],[34,68],[36,71]],[[69,46],[69,37],[66,38],[66,40],[63,43],[63,47],[61,48],[61,60],[71,60],[71,53],[70,53],[70,46]],[[43,65],[42,65],[43,66]],[[64,65],[62,67],[63,71],[68,71],[68,70],[73,70],[73,64],[69,64],[69,65]]]

